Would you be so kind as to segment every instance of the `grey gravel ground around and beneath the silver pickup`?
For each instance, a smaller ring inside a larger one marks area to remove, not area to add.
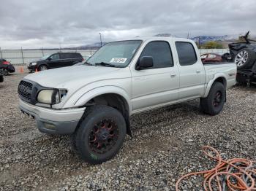
[[[39,133],[18,110],[17,87],[26,74],[0,83],[0,190],[175,190],[183,174],[212,168],[203,156],[210,145],[222,157],[256,159],[256,87],[227,91],[223,112],[211,117],[198,101],[132,116],[133,139],[102,165],[83,163],[68,136]],[[200,176],[181,190],[203,190]]]

